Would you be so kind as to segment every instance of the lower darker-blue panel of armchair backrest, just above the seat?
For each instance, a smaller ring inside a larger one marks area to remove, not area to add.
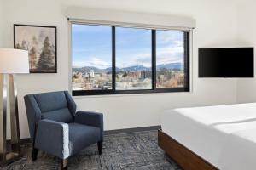
[[[73,122],[73,116],[67,108],[56,110],[56,111],[48,111],[41,114],[42,119],[49,119],[56,122]]]

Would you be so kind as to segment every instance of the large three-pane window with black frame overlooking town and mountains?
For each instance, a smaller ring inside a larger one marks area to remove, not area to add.
[[[73,95],[189,91],[189,32],[72,24]]]

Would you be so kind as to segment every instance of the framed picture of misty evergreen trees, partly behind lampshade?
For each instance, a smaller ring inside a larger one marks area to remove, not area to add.
[[[31,73],[57,72],[57,36],[55,26],[14,25],[15,48],[29,54]]]

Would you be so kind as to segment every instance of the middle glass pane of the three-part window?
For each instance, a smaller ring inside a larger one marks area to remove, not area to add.
[[[116,28],[116,89],[152,89],[151,30]]]

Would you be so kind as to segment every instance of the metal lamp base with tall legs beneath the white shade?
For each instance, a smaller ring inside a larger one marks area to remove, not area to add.
[[[17,89],[13,75],[7,78],[0,74],[0,166],[6,166],[20,158],[20,128],[17,103]],[[7,126],[7,90],[9,88],[9,108],[11,127],[11,151],[7,152],[6,126]]]

